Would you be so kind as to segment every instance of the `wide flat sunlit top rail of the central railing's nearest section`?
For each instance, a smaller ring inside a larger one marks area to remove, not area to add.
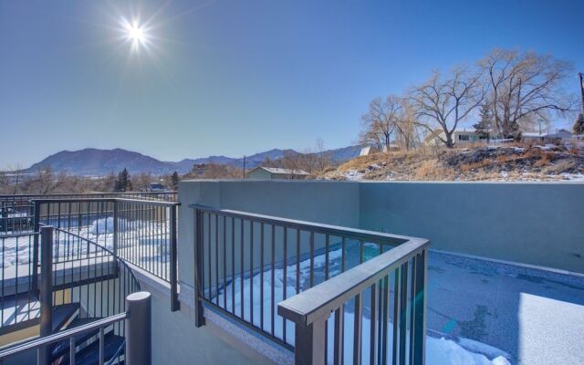
[[[359,266],[287,298],[278,304],[277,314],[306,327],[318,318],[330,315],[351,297],[387,276],[429,245],[427,239],[412,238]]]

